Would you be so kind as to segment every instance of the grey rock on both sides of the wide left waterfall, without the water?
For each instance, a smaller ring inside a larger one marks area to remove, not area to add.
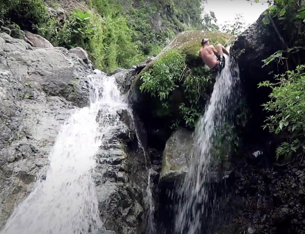
[[[1,228],[16,204],[32,191],[34,182],[44,180],[61,124],[75,108],[88,105],[87,76],[92,73],[75,51],[34,47],[0,34]],[[101,110],[98,122],[102,114]],[[104,139],[97,157],[96,169],[102,175],[95,181],[101,217],[105,227],[116,233],[144,233],[145,131],[126,109],[112,120],[116,128]]]

